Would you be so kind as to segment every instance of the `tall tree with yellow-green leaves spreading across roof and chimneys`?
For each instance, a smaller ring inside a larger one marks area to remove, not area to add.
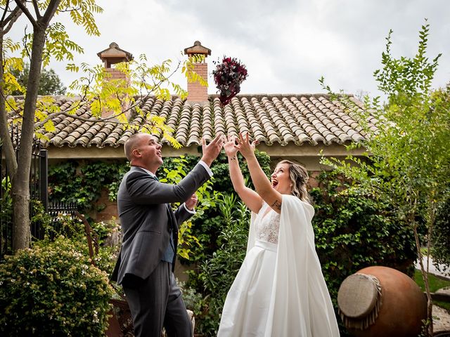
[[[52,22],[57,15],[69,14],[75,25],[83,27],[86,34],[99,35],[98,27],[94,20],[95,13],[101,13],[103,9],[96,5],[95,0],[0,0],[3,14],[0,19],[0,138],[8,165],[8,175],[11,178],[11,194],[13,199],[13,250],[27,248],[31,242],[30,235],[30,164],[32,159],[32,142],[34,136],[43,136],[36,133],[36,129],[44,126],[47,130],[53,127],[52,118],[57,114],[70,115],[70,111],[61,112],[53,104],[51,97],[38,100],[39,82],[43,66],[49,65],[51,58],[56,60],[74,60],[73,53],[82,53],[83,49],[68,37],[65,27],[60,22]],[[25,15],[32,25],[32,32],[25,34],[25,48],[22,50],[22,58],[13,57],[10,53],[17,52],[20,44],[14,43],[6,37],[11,27],[17,22],[20,15]],[[20,88],[17,79],[11,70],[23,71],[23,58],[30,58],[30,72],[25,86],[25,100],[16,102],[8,97],[14,90]],[[172,85],[172,89],[181,97],[186,97],[179,85],[169,81],[172,74],[179,69],[181,62],[172,71],[170,60],[160,65],[148,66],[145,55],[141,55],[139,62],[132,65],[117,65],[122,72],[129,75],[132,85],[127,81],[108,79],[108,74],[101,66],[90,67],[82,64],[84,76],[80,77],[71,88],[77,90],[82,99],[78,105],[90,105],[91,112],[98,120],[102,119],[101,111],[111,110],[113,115],[108,120],[117,119],[119,123],[127,124],[124,112],[135,108],[139,112],[134,101],[134,95],[149,95],[155,93],[158,98],[169,98],[170,93],[164,84]],[[190,81],[205,80],[193,72],[193,62],[198,58],[189,58],[184,61],[182,72]],[[69,63],[67,69],[78,72],[80,67],[75,63]],[[17,155],[13,147],[13,140],[9,133],[8,112],[15,112],[14,123],[20,126],[20,147]],[[75,115],[73,118],[82,119]],[[176,140],[170,137],[169,129],[164,121],[158,117],[150,117],[152,129],[158,130],[167,136],[167,139],[176,145]],[[20,169],[18,169],[20,167]]]

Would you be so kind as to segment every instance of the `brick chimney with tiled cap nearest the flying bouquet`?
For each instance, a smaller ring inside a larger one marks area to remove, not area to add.
[[[184,54],[189,57],[193,55],[211,55],[211,49],[208,49],[200,41],[195,41],[192,47],[184,49]],[[203,62],[198,62],[194,64],[194,72],[196,72],[200,77],[207,81],[208,78],[208,65],[205,60]],[[200,82],[189,82],[188,81],[188,101],[190,102],[207,102],[208,100],[208,87],[202,86]]]

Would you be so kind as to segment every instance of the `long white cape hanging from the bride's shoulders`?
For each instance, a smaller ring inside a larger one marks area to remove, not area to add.
[[[264,337],[340,336],[314,246],[314,208],[283,195],[274,284]],[[255,246],[252,214],[247,251]]]

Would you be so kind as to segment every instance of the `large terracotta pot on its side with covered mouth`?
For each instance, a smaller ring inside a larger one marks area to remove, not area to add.
[[[366,267],[342,282],[340,316],[358,337],[418,336],[427,300],[408,275],[389,267]]]

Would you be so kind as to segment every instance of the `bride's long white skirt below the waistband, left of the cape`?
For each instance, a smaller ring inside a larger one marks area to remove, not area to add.
[[[245,256],[226,296],[218,337],[264,336],[277,247],[257,240]]]

